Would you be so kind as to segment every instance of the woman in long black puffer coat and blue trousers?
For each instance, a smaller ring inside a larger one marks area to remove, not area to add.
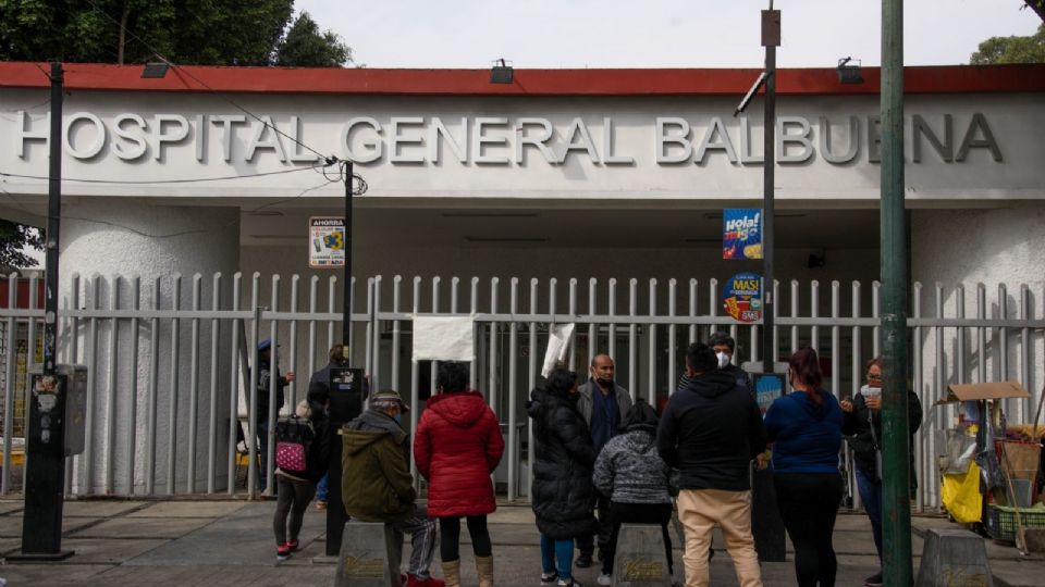
[[[557,579],[562,587],[580,586],[571,573],[574,538],[598,532],[591,509],[595,450],[576,395],[577,374],[557,367],[527,403],[536,445],[530,502],[541,532],[541,583]]]

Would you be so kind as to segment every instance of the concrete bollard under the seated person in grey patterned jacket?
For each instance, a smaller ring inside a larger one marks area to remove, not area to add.
[[[613,561],[614,587],[671,587],[664,537],[656,524],[622,524]]]

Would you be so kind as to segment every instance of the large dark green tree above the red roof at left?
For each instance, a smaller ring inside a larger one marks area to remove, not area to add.
[[[0,60],[115,63],[122,48],[144,63],[151,46],[183,65],[268,65],[293,12],[293,0],[0,0]]]

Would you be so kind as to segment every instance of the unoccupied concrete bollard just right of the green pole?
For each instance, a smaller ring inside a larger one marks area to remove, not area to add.
[[[983,538],[964,529],[932,528],[925,535],[917,587],[994,587]]]

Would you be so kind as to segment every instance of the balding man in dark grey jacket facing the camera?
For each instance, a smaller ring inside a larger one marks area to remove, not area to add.
[[[614,382],[614,364],[608,354],[594,355],[591,359],[590,373],[588,382],[577,389],[580,394],[577,409],[580,410],[591,430],[592,445],[598,454],[602,447],[617,435],[622,419],[631,409],[631,395]],[[610,532],[613,528],[610,524],[610,496],[597,495],[598,499],[592,507],[599,517],[599,559],[601,560],[608,549]],[[581,569],[591,566],[591,557],[595,550],[594,536],[578,536],[577,549],[580,550],[577,566]]]

